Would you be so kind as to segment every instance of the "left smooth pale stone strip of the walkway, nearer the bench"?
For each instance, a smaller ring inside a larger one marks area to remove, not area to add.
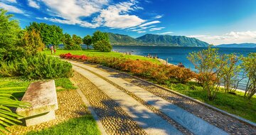
[[[182,134],[181,131],[171,126],[167,121],[154,114],[154,112],[151,112],[150,109],[147,109],[143,104],[137,102],[137,100],[122,92],[122,90],[117,89],[117,87],[114,87],[109,82],[75,65],[73,65],[73,69],[87,77],[102,92],[105,92],[114,102],[117,102],[127,112],[129,117],[132,117],[147,134]]]

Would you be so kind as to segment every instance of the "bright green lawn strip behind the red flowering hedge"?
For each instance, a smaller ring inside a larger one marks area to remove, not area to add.
[[[46,55],[50,55],[50,50],[44,50],[43,53],[46,53]],[[158,60],[154,58],[146,58],[140,55],[125,55],[123,53],[117,53],[117,52],[109,52],[109,53],[103,53],[99,52],[97,50],[57,50],[56,54],[53,55],[60,55],[63,53],[71,53],[73,55],[87,55],[87,56],[104,56],[104,57],[116,57],[116,58],[129,58],[132,60],[146,60],[151,61],[152,63],[159,63]]]

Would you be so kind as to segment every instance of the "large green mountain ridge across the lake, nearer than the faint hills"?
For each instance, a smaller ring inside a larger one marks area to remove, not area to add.
[[[146,34],[139,38],[132,38],[127,35],[108,33],[112,45],[154,45],[154,46],[191,46],[206,47],[209,44],[199,41],[196,38],[186,36],[169,36]]]

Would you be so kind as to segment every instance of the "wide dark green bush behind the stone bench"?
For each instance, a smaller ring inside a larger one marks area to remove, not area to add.
[[[12,62],[1,63],[0,73],[3,76],[23,76],[28,79],[53,79],[70,77],[72,65],[58,58],[38,54]]]

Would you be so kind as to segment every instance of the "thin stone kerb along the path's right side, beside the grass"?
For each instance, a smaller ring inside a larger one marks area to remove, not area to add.
[[[86,62],[86,63],[88,63],[88,62]],[[95,63],[92,63],[92,64],[95,64]],[[95,64],[95,65],[98,65],[98,64]],[[103,65],[100,65],[100,66],[105,67],[105,66],[103,66]],[[105,68],[108,68],[108,67],[105,67]],[[109,68],[109,69],[114,70],[113,68]],[[116,71],[116,72],[122,72],[122,71],[119,71],[119,70],[114,70],[114,71]],[[129,74],[127,74],[127,72],[122,72],[122,73],[124,73],[124,74],[126,74],[126,75],[129,75]],[[179,92],[175,92],[174,90],[170,90],[170,89],[167,89],[166,87],[162,87],[162,86],[156,85],[156,84],[154,84],[154,83],[152,83],[152,82],[143,80],[143,79],[141,79],[141,78],[139,78],[139,77],[135,77],[135,76],[133,76],[133,75],[129,75],[129,76],[130,76],[130,77],[134,77],[134,78],[137,79],[137,80],[141,80],[141,81],[143,81],[143,82],[146,82],[146,83],[149,83],[149,84],[151,84],[151,85],[154,85],[154,86],[156,86],[156,87],[159,87],[159,88],[161,88],[161,89],[163,89],[163,90],[166,90],[166,91],[168,91],[168,92],[172,92],[172,93],[174,93],[175,95],[179,95],[179,96],[181,96],[181,97],[185,97],[185,98],[187,98],[187,99],[190,99],[190,100],[193,101],[193,102],[196,102],[196,103],[198,103],[198,104],[202,104],[203,106],[208,107],[208,108],[210,108],[210,109],[213,109],[213,110],[215,110],[215,111],[217,111],[217,112],[220,112],[221,114],[228,115],[229,117],[233,117],[233,118],[235,118],[235,119],[238,119],[239,121],[241,121],[241,122],[243,122],[243,123],[245,123],[245,124],[250,124],[251,126],[255,126],[255,127],[256,127],[256,123],[254,123],[254,122],[252,122],[252,121],[249,121],[249,120],[244,119],[244,118],[242,118],[242,117],[238,117],[238,116],[236,116],[236,115],[234,115],[234,114],[230,114],[230,113],[228,113],[228,112],[225,112],[225,111],[223,111],[222,109],[218,109],[218,108],[216,108],[216,107],[213,107],[212,105],[206,104],[206,103],[204,103],[204,102],[201,102],[201,101],[199,101],[198,99],[194,99],[194,98],[192,98],[192,97],[188,97],[188,96],[183,95],[183,94],[181,94],[181,93],[179,93]]]

